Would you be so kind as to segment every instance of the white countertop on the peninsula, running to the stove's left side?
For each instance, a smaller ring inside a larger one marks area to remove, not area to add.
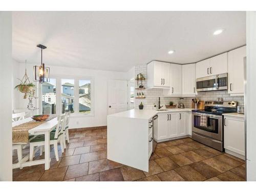
[[[151,119],[158,113],[169,113],[169,112],[184,112],[191,111],[191,108],[184,109],[166,109],[167,111],[157,111],[157,110],[128,110],[120,113],[111,114],[108,116],[112,117],[124,117],[124,118],[135,118],[135,119]]]

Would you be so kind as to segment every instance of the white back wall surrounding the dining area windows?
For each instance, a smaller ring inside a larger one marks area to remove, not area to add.
[[[39,62],[39,61],[38,61]],[[36,65],[39,65],[38,63]],[[103,65],[103,64],[102,64]],[[27,72],[30,79],[33,79],[33,66],[32,64],[27,65]],[[61,76],[62,78],[68,78],[69,76],[84,76],[94,78],[94,116],[87,117],[71,117],[70,127],[91,127],[91,126],[105,126],[106,116],[108,115],[108,80],[109,79],[128,79],[127,73],[114,72],[114,71],[101,71],[101,70],[89,70],[81,68],[67,68],[67,67],[50,67],[50,76]],[[19,78],[24,75],[25,64],[19,63]],[[18,94],[19,109],[26,109],[28,99],[23,99],[23,95]]]

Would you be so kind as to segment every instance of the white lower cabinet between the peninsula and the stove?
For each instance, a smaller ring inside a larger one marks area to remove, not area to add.
[[[157,141],[188,135],[188,113],[173,112],[158,114],[158,126],[154,131]]]

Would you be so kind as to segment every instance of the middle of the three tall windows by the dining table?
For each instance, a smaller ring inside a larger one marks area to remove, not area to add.
[[[74,113],[74,79],[61,79],[61,112]],[[73,88],[73,89],[71,89]]]

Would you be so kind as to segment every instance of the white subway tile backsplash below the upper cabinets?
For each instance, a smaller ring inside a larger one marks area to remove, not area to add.
[[[135,76],[139,73],[142,73],[145,78],[146,75],[146,65],[135,66]],[[144,84],[147,87],[146,82]],[[137,82],[135,83],[135,87],[137,87]],[[135,97],[140,90],[135,90]],[[154,104],[158,104],[158,98],[160,97],[161,105],[165,108],[165,104],[169,104],[169,101],[173,101],[174,104],[178,104],[180,101],[180,97],[164,97],[163,89],[149,89],[142,90],[145,95],[145,99],[135,99],[135,109],[139,109],[139,104],[142,101],[144,105],[144,109],[153,109]],[[238,101],[238,105],[244,105],[244,97],[243,96],[230,96],[227,91],[208,91],[208,92],[198,92],[197,98],[200,100],[217,100],[219,97],[223,98],[223,100],[232,100]],[[191,100],[194,97],[183,97],[183,103],[186,108],[191,108]]]

